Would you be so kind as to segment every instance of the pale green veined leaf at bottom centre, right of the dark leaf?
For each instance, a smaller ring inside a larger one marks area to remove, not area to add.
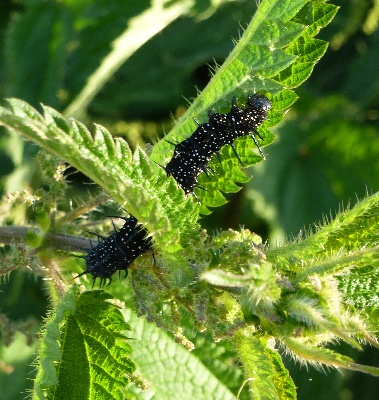
[[[130,312],[133,361],[157,399],[234,399],[235,396],[192,353],[166,332]]]

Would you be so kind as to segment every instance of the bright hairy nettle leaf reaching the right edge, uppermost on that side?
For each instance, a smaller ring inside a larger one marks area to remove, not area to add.
[[[341,264],[344,269],[348,265],[354,265],[359,259],[363,259],[364,265],[374,263],[378,246],[378,212],[379,193],[376,193],[359,202],[353,209],[341,212],[308,238],[270,249],[266,253],[267,257],[275,260],[280,268],[290,265],[289,270],[301,274],[300,279],[316,272],[340,272],[339,263],[331,261],[341,256],[346,256],[345,265]],[[315,260],[315,256],[319,260]],[[312,265],[305,268],[304,259],[311,260]],[[325,263],[326,260],[330,265]],[[319,263],[326,265],[316,266]]]

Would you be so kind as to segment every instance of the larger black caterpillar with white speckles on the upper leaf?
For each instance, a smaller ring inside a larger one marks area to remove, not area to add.
[[[266,96],[254,94],[248,96],[246,108],[237,106],[233,99],[232,108],[227,114],[210,112],[209,122],[199,124],[196,131],[183,142],[174,144],[174,155],[164,167],[168,176],[173,176],[186,194],[193,193],[197,186],[197,178],[202,172],[210,170],[208,163],[213,154],[217,154],[222,146],[231,145],[241,165],[243,163],[234,147],[234,140],[249,135],[264,158],[263,151],[255,137],[261,140],[256,128],[267,119],[271,102]],[[195,121],[196,122],[196,121]],[[170,142],[171,143],[171,142]]]

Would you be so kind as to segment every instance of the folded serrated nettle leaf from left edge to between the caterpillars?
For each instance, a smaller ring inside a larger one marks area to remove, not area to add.
[[[191,238],[196,239],[198,204],[177,190],[142,149],[132,154],[124,140],[113,139],[98,125],[92,138],[83,124],[68,121],[49,107],[44,107],[42,116],[21,100],[12,99],[9,104],[11,110],[0,108],[4,126],[64,158],[103,187],[148,227],[167,257],[173,257]],[[181,259],[178,254],[175,257]]]

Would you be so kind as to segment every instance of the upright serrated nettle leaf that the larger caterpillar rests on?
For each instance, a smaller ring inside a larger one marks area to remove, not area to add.
[[[165,140],[180,142],[196,129],[193,119],[205,122],[209,110],[225,112],[233,98],[243,102],[246,93],[263,91],[269,93],[272,110],[269,121],[258,130],[263,137],[262,146],[272,143],[275,137],[266,127],[280,122],[282,114],[279,110],[296,100],[290,89],[309,77],[315,63],[325,53],[327,43],[313,36],[336,12],[337,7],[322,2],[263,1],[234,50]],[[159,142],[152,153],[152,159],[163,165],[172,154],[172,146],[170,149],[165,140]],[[255,146],[249,137],[238,139],[236,148],[245,166],[262,160],[252,151]],[[236,192],[239,187],[235,183],[248,180],[241,173],[239,161],[230,146],[222,149],[221,163],[214,157],[210,165],[216,173],[212,177],[202,174],[199,186],[205,190],[196,190],[204,213],[207,213],[204,206],[217,207],[225,203],[220,191]]]

